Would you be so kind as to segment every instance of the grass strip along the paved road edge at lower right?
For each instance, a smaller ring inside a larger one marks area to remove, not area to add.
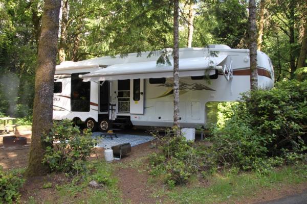
[[[307,165],[286,166],[272,170],[268,174],[254,172],[238,174],[228,170],[213,174],[209,180],[211,183],[209,187],[178,186],[168,191],[160,189],[152,196],[165,195],[171,203],[202,203],[204,200],[206,203],[235,202],[243,197],[251,197],[264,189],[307,182]]]

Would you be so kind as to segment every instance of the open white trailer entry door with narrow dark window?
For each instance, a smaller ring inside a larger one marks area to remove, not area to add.
[[[130,114],[144,114],[144,80],[130,80]]]

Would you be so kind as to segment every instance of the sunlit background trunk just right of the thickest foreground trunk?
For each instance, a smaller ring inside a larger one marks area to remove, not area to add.
[[[59,44],[59,60],[60,62],[65,61],[65,44],[66,44],[66,28],[67,28],[67,17],[68,17],[68,0],[63,0],[62,5],[62,18],[61,18],[61,35]]]

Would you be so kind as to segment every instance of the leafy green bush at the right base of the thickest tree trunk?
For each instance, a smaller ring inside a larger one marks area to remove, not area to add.
[[[54,121],[53,128],[46,135],[47,147],[43,163],[52,171],[78,173],[86,169],[85,160],[94,152],[96,141],[89,130],[80,132],[68,120]]]

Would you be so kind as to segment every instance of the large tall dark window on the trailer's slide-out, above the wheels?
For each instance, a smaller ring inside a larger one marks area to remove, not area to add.
[[[85,72],[89,73],[89,72]],[[91,82],[83,82],[79,74],[73,73],[71,83],[71,111],[89,112],[91,97]]]

